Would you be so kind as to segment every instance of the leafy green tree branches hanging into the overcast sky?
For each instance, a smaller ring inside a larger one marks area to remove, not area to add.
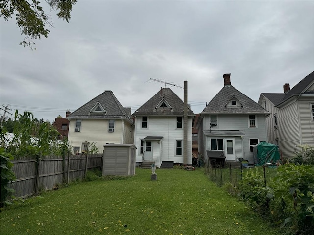
[[[76,0],[46,0],[51,9],[56,10],[57,16],[69,22],[70,12]],[[8,21],[15,15],[16,24],[25,36],[20,45],[35,47],[34,39],[40,39],[42,36],[48,37],[49,30],[47,26],[52,26],[51,18],[44,12],[40,6],[40,1],[36,0],[1,0],[1,17]]]

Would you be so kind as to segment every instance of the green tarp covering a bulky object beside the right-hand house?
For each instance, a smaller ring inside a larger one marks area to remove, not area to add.
[[[257,166],[266,163],[278,163],[280,160],[280,152],[277,145],[264,141],[259,142],[253,147],[253,155]]]

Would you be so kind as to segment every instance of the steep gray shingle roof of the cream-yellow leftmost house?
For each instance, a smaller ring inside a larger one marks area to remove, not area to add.
[[[105,113],[90,112],[98,103],[104,108]],[[130,109],[123,108],[112,91],[104,91],[72,112],[67,118],[124,118],[132,122]]]

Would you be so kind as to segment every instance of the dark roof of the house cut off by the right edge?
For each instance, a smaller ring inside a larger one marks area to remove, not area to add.
[[[284,103],[289,98],[300,94],[314,94],[314,92],[307,92],[307,89],[314,84],[314,71],[303,78],[296,84],[287,94],[284,93],[261,93],[269,99],[275,106]]]

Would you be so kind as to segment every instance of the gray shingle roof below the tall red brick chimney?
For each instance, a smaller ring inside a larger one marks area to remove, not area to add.
[[[240,102],[241,106],[230,107],[226,105],[228,101],[230,101],[233,96]],[[239,92],[231,85],[224,86],[213,99],[209,102],[209,104],[205,107],[202,113],[262,113],[269,114],[267,110],[265,110],[258,103],[247,97],[245,94]]]

